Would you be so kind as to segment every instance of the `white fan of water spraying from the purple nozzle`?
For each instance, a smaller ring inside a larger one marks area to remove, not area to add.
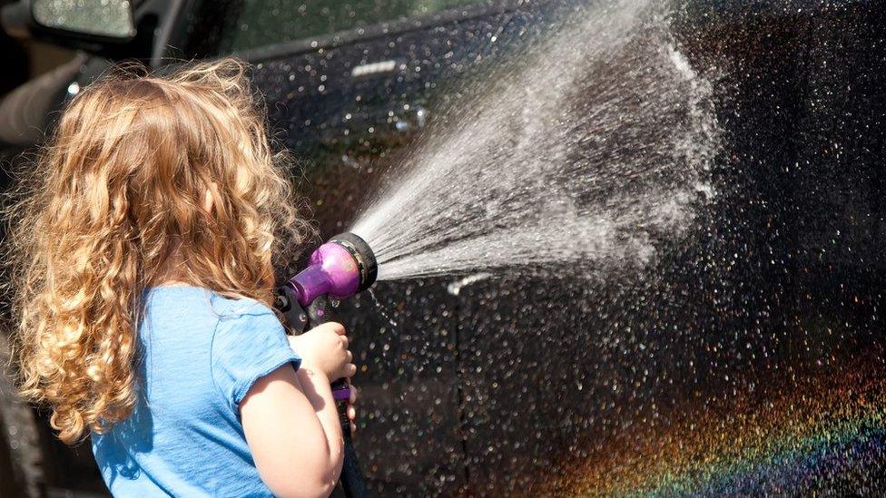
[[[379,279],[644,265],[700,202],[711,87],[649,2],[583,7],[438,110],[351,229]]]

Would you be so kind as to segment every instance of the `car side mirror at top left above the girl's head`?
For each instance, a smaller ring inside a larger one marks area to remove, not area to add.
[[[102,53],[135,36],[130,0],[19,0],[0,13],[5,31]]]

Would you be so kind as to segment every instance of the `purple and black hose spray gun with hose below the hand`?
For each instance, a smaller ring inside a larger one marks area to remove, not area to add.
[[[285,317],[292,333],[301,334],[330,321],[330,304],[371,287],[378,274],[379,265],[369,244],[353,233],[342,233],[314,250],[308,268],[277,289],[275,307]],[[350,436],[347,379],[332,383],[332,397],[344,436],[341,487],[349,497],[368,496]]]

